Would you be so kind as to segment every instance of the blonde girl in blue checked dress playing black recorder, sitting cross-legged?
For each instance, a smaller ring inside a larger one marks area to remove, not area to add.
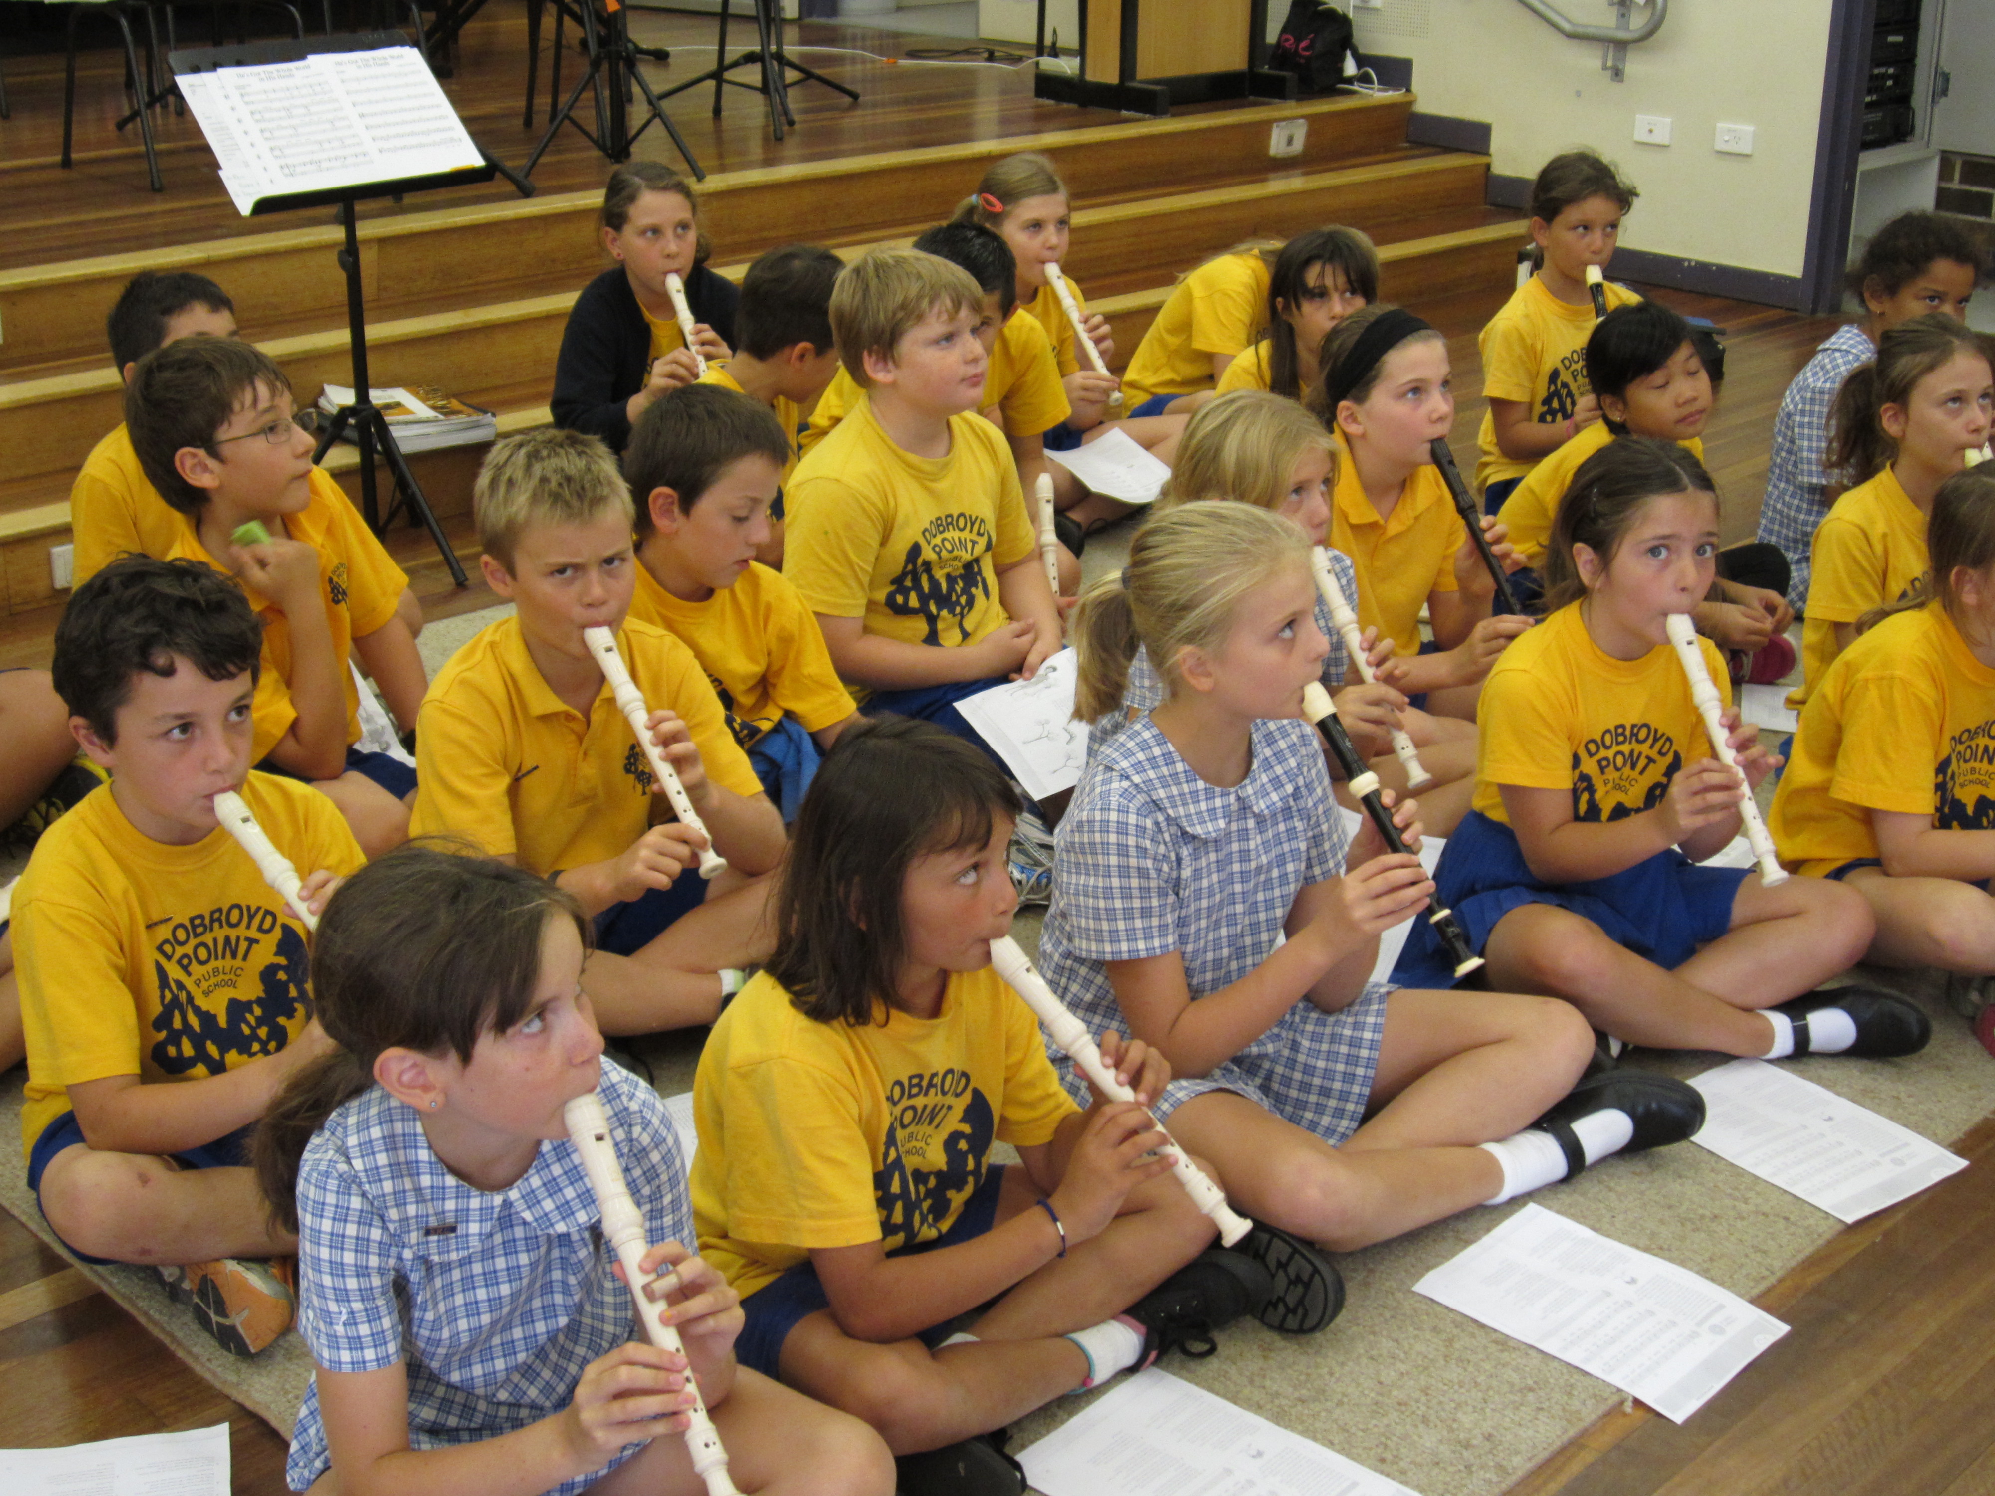
[[[1171,1061],[1151,1111],[1237,1211],[1335,1251],[1688,1137],[1690,1087],[1580,1081],[1592,1039],[1556,1003],[1371,981],[1432,884],[1331,800],[1301,720],[1329,650],[1315,598],[1309,539],[1243,503],[1157,515],[1081,598],[1075,714],[1123,700],[1137,646],[1169,694],[1089,758],[1059,824],[1047,981]],[[1414,802],[1393,816],[1416,848]]]

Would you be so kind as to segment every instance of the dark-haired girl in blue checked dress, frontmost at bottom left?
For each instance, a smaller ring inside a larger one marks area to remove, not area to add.
[[[271,1217],[297,1233],[315,1362],[291,1490],[698,1496],[692,1378],[742,1490],[888,1496],[872,1430],[734,1364],[740,1307],[682,1245],[664,1103],[600,1061],[589,934],[553,882],[423,842],[327,904],[313,991],[337,1049],[291,1077],[255,1139]],[[602,1237],[563,1121],[591,1091],[644,1215],[644,1293],[684,1354],[642,1338]]]

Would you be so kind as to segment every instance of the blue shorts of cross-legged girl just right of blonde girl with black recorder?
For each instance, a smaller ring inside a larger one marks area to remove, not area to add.
[[[1434,870],[1434,902],[1454,910],[1468,947],[1482,951],[1496,922],[1526,904],[1556,904],[1592,920],[1616,945],[1674,971],[1698,945],[1732,928],[1732,904],[1744,868],[1704,868],[1676,848],[1658,852],[1612,878],[1540,884],[1524,864],[1516,832],[1470,810],[1454,828]],[[1452,987],[1454,963],[1434,926],[1416,918],[1393,967],[1404,987]]]

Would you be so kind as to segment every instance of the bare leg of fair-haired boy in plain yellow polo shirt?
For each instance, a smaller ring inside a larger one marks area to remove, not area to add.
[[[748,880],[734,892],[718,892],[720,878],[704,904],[674,920],[644,949],[634,955],[595,951],[589,957],[583,985],[604,1033],[658,1033],[712,1023],[720,1015],[720,969],[766,961],[776,949],[768,924],[774,876]]]

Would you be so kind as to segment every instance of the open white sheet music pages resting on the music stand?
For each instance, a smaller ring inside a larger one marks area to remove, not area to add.
[[[299,193],[485,166],[413,46],[182,72],[178,82],[245,217]]]

